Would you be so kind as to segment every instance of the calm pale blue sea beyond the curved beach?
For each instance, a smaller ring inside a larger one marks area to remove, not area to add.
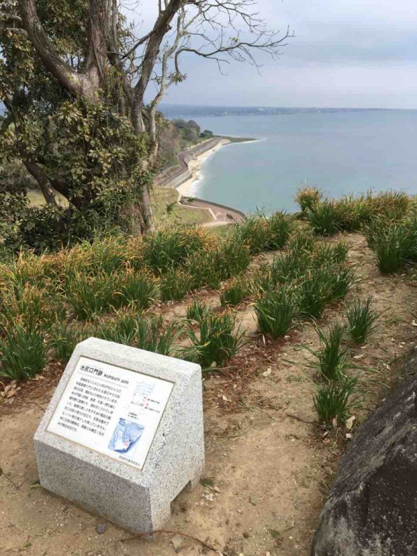
[[[417,111],[293,113],[195,118],[202,129],[257,138],[223,147],[202,165],[193,195],[267,213],[293,211],[297,188],[330,197],[366,190],[417,194]]]

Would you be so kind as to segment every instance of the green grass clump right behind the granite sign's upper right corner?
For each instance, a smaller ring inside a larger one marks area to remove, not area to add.
[[[191,345],[183,350],[183,356],[203,369],[226,363],[234,357],[243,339],[243,334],[235,332],[235,323],[234,313],[208,313],[198,321],[197,332],[188,323]]]

